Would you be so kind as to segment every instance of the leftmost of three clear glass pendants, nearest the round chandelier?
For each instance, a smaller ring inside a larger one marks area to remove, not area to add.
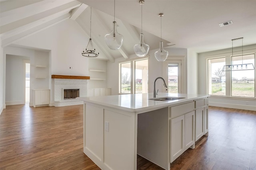
[[[114,21],[112,32],[105,35],[105,41],[108,48],[112,50],[118,50],[123,44],[124,36],[116,31],[116,21],[115,21],[115,0],[114,0]]]

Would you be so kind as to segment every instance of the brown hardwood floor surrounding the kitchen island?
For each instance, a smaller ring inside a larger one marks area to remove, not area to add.
[[[7,106],[0,115],[1,170],[99,170],[83,153],[83,107]],[[139,170],[162,170],[137,156]],[[209,136],[171,170],[256,170],[256,111],[209,107]]]

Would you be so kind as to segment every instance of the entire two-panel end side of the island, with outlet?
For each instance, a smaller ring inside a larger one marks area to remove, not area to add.
[[[84,153],[104,170],[136,170],[133,112],[84,104]]]

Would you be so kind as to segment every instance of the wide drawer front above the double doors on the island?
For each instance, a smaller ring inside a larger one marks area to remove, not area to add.
[[[177,117],[179,115],[184,115],[185,113],[188,113],[190,111],[194,110],[194,102],[186,103],[186,104],[181,104],[179,106],[174,106],[171,107],[171,118]]]

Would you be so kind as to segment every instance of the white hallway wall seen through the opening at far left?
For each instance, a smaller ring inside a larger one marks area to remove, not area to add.
[[[29,57],[6,55],[6,106],[25,104],[24,59]]]

